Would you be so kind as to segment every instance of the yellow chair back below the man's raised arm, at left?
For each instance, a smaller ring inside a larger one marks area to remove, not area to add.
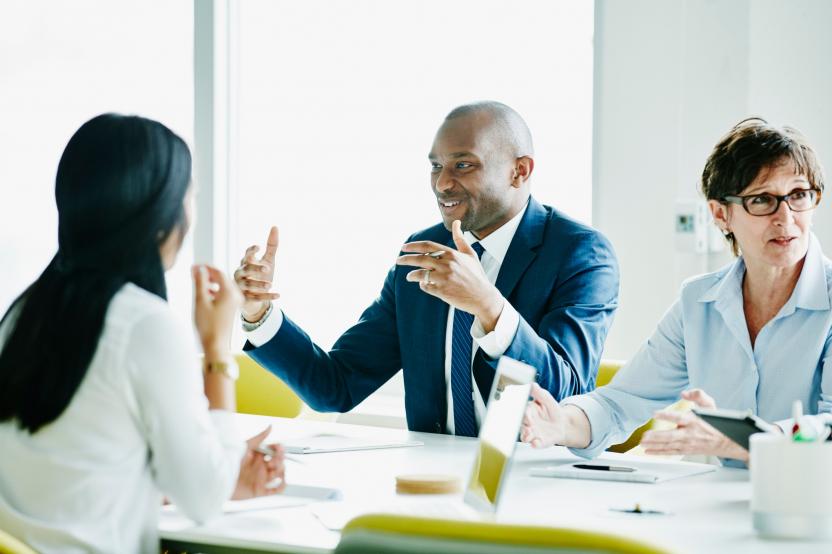
[[[237,411],[273,417],[297,417],[303,402],[286,383],[246,354],[237,354]]]

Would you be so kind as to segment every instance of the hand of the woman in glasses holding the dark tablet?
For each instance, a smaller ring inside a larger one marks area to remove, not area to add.
[[[700,408],[716,408],[714,399],[701,389],[684,391],[682,398]],[[656,412],[657,420],[676,424],[675,429],[647,431],[641,439],[646,454],[706,454],[748,462],[748,450],[741,447],[693,412]]]

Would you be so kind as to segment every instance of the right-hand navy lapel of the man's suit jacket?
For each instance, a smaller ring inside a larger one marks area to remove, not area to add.
[[[534,198],[529,198],[529,207],[514,233],[497,275],[497,289],[505,298],[514,291],[520,277],[537,257],[536,248],[543,243],[545,229],[546,210]]]

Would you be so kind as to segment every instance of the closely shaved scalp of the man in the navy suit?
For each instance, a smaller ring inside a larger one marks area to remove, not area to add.
[[[532,134],[520,114],[501,102],[486,100],[463,104],[451,110],[445,121],[473,116],[488,122],[494,146],[505,149],[513,158],[534,156]]]

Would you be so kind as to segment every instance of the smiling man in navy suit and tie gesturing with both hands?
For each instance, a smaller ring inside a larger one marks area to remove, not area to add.
[[[523,119],[498,102],[460,106],[429,159],[443,223],[410,237],[329,352],[274,308],[277,229],[263,257],[246,251],[235,279],[248,354],[319,411],[348,411],[402,370],[413,431],[475,436],[501,355],[534,366],[558,400],[592,390],[618,264],[599,232],[531,197]]]

